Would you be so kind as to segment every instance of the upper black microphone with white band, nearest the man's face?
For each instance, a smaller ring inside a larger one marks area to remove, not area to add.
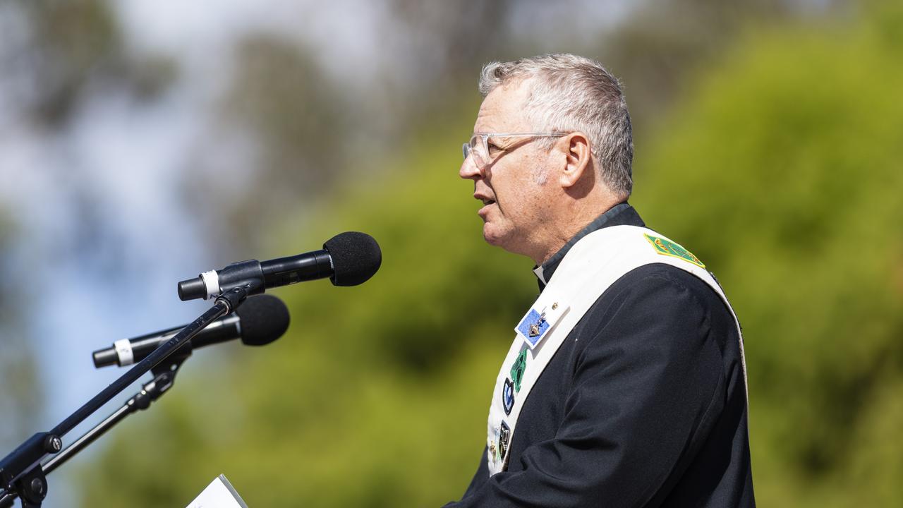
[[[249,259],[182,280],[179,298],[206,300],[234,287],[247,287],[248,295],[257,295],[265,288],[327,277],[333,286],[357,286],[377,273],[382,259],[377,240],[366,233],[349,231],[326,240],[321,250],[264,262]]]

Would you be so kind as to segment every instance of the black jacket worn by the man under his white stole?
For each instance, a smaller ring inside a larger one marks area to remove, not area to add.
[[[644,226],[627,203],[593,230]],[[542,282],[540,283],[542,288]],[[486,450],[446,508],[754,506],[734,319],[712,288],[666,264],[619,278],[583,315],[524,402],[507,471]]]

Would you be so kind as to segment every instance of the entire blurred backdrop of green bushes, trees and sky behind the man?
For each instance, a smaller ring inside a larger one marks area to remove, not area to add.
[[[895,1],[0,3],[0,455],[122,373],[91,351],[200,315],[178,280],[362,230],[374,278],[275,290],[282,339],[195,352],[45,506],[184,506],[220,473],[250,506],[460,497],[536,292],[460,146],[481,65],[543,52],[623,80],[631,202],[740,315],[759,505],[903,506]]]

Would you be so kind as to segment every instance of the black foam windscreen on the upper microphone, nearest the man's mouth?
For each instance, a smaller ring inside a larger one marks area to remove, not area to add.
[[[383,262],[377,240],[367,233],[340,233],[326,240],[323,249],[330,253],[332,259],[330,280],[335,286],[357,286],[367,282]]]

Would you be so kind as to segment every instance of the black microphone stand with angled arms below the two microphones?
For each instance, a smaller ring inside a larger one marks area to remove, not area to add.
[[[182,328],[181,332],[173,335],[169,341],[155,349],[154,353],[147,355],[141,362],[135,363],[135,366],[129,369],[128,372],[110,383],[107,388],[101,390],[93,399],[88,400],[85,405],[72,413],[69,418],[64,419],[60,425],[52,428],[49,432],[35,434],[14,449],[12,453],[5,456],[3,460],[0,460],[0,489],[3,489],[0,491],[3,493],[0,495],[0,506],[8,506],[18,496],[22,500],[23,508],[40,508],[43,499],[47,496],[47,473],[61,466],[63,462],[78,453],[82,448],[87,447],[109,428],[116,425],[119,420],[125,418],[126,415],[134,412],[136,409],[146,408],[153,400],[160,397],[163,392],[172,386],[175,372],[187,355],[176,356],[175,360],[166,363],[166,366],[162,369],[157,369],[157,367],[188,343],[191,337],[198,334],[204,327],[216,321],[219,317],[237,309],[248,295],[262,292],[263,287],[260,286],[262,285],[259,283],[247,282],[241,287],[229,289],[218,296],[213,306],[207,312],[200,315],[190,325]],[[175,364],[174,368],[172,368],[173,364]],[[154,381],[145,384],[132,400],[126,402],[126,406],[118,409],[84,436],[79,437],[70,447],[66,448],[64,453],[61,453],[62,436],[97,412],[101,406],[116,397],[122,390],[126,390],[130,384],[137,381],[144,373],[154,369],[156,369],[154,371]],[[164,376],[163,374],[169,375]],[[160,385],[156,386],[155,382],[158,378],[160,378]],[[149,386],[152,384],[154,386]],[[147,390],[148,388],[151,390]],[[156,390],[156,395],[152,396],[151,393],[154,390]],[[143,395],[145,392],[146,395]],[[130,405],[133,400],[135,400],[134,404]],[[140,407],[139,404],[144,405],[144,407]],[[135,409],[132,409],[132,406],[135,406]],[[58,453],[61,453],[61,455],[52,457],[51,460],[42,464],[42,460],[46,456]]]

